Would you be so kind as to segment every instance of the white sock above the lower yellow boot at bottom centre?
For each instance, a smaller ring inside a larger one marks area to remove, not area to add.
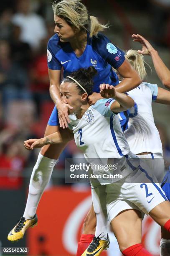
[[[96,232],[101,240],[107,239],[107,210],[106,210],[106,192],[105,186],[99,186],[91,189],[94,212],[96,213]]]

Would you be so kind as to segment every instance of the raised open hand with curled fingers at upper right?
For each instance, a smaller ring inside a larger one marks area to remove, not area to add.
[[[138,53],[143,55],[150,55],[152,51],[155,51],[152,45],[143,36],[133,34],[132,38],[133,41],[142,44],[142,50],[137,51]]]

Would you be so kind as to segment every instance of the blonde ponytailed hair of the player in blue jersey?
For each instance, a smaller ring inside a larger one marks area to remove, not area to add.
[[[57,15],[66,22],[75,26],[79,30],[89,31],[90,37],[96,36],[100,31],[108,28],[107,25],[100,24],[94,16],[89,16],[87,8],[81,0],[61,0],[53,3],[54,15]]]

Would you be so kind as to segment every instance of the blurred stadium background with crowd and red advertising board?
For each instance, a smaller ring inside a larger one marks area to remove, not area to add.
[[[68,0],[69,1],[69,0]],[[82,223],[91,206],[88,185],[65,184],[65,158],[81,157],[73,141],[64,150],[38,207],[38,226],[18,243],[8,232],[23,215],[32,168],[38,150],[26,151],[23,141],[40,138],[53,109],[49,96],[46,44],[53,35],[52,0],[0,2],[0,246],[29,247],[29,255],[76,254]],[[170,0],[83,0],[89,14],[111,25],[105,32],[123,50],[139,49],[132,33],[145,36],[170,68]],[[20,20],[19,13],[23,13]],[[146,58],[152,67],[150,58]],[[147,82],[162,86],[154,68]],[[162,139],[165,166],[170,165],[170,107],[153,105]],[[142,241],[159,255],[160,228],[150,218],[143,223]],[[114,236],[103,255],[121,255]]]

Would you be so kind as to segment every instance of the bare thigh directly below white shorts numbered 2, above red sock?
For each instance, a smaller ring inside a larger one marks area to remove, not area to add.
[[[142,218],[139,210],[127,209],[111,221],[112,230],[119,243],[120,251],[141,243]]]

